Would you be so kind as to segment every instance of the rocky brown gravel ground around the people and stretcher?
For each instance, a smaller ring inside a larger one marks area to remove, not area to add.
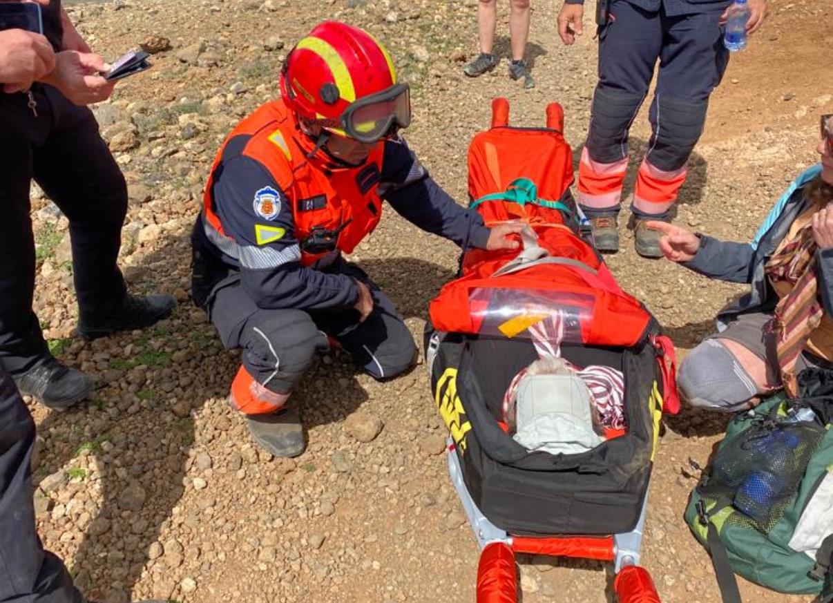
[[[309,447],[292,461],[271,458],[227,406],[238,355],[222,350],[190,302],[188,235],[223,137],[277,96],[286,52],[324,18],[367,27],[387,43],[414,91],[408,140],[456,198],[465,198],[466,146],[486,127],[492,96],[509,97],[521,125],[542,124],[546,102],[561,102],[566,136],[579,147],[595,84],[595,42],[588,28],[576,47],[562,47],[554,8],[535,9],[530,56],[537,87],[525,91],[506,77],[506,61],[486,77],[461,75],[475,48],[474,0],[115,0],[70,7],[105,56],[140,44],[153,53],[152,71],[120,83],[112,102],[95,112],[130,187],[125,277],[134,291],[170,292],[179,302],[172,318],[148,331],[92,343],[73,337],[67,222],[33,190],[37,314],[54,353],[98,384],[76,411],[50,413],[31,403],[39,429],[37,520],[45,545],[67,560],[92,598],[471,601],[476,545],[447,478],[445,431],[424,366],[378,384],[342,354],[322,356],[297,392]],[[678,222],[748,239],[791,177],[814,161],[816,115],[833,111],[829,73],[822,77],[831,17],[830,0],[772,2],[766,29],[713,98]],[[506,54],[507,46],[501,37],[498,50]],[[801,72],[792,68],[796,57]],[[641,116],[632,137],[635,164],[648,134]],[[610,258],[612,269],[656,312],[682,353],[742,290],[641,260],[630,234],[623,248]],[[453,274],[456,251],[389,212],[352,259],[421,337],[426,304]],[[691,411],[667,421],[643,550],[664,601],[719,601],[710,562],[681,515],[696,483],[693,466],[706,464],[724,426],[720,417]],[[526,603],[610,600],[601,565],[521,561]],[[786,599],[749,584],[742,590],[750,601]]]

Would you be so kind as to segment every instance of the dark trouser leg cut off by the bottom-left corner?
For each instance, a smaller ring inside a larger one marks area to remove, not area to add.
[[[34,445],[35,422],[0,366],[0,603],[80,603],[67,568],[35,531]]]

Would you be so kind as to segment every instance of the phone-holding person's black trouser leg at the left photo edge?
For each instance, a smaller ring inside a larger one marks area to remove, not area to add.
[[[48,136],[52,114],[36,94],[39,117],[22,94],[0,92],[0,364],[17,374],[48,354],[32,312],[35,242],[29,217],[33,149]]]

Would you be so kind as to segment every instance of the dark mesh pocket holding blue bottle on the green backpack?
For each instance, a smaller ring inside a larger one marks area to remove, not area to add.
[[[824,434],[816,423],[761,421],[726,442],[698,489],[768,533],[796,495]]]

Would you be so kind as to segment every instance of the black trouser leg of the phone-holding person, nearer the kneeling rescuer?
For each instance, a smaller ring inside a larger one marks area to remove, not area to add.
[[[69,219],[79,311],[108,311],[127,292],[117,267],[127,185],[92,112],[53,88],[47,97],[55,125],[34,151],[34,177]]]

